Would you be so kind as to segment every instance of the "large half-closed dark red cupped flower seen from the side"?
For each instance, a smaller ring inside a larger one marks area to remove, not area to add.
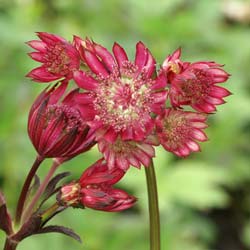
[[[88,150],[93,131],[78,110],[76,94],[71,91],[62,101],[67,83],[46,88],[31,107],[28,134],[40,156],[69,158]]]

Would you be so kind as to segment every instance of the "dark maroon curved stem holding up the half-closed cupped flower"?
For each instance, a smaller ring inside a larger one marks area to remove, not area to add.
[[[39,156],[39,155],[36,157],[32,167],[30,169],[30,172],[29,172],[29,174],[28,174],[28,176],[23,184],[23,188],[22,188],[22,191],[20,193],[18,203],[17,203],[17,208],[16,208],[16,219],[15,219],[16,223],[19,223],[21,220],[23,208],[24,208],[24,203],[25,203],[25,200],[27,198],[30,184],[32,182],[32,179],[33,179],[38,167],[40,166],[40,164],[42,163],[43,160],[44,160],[44,158]]]

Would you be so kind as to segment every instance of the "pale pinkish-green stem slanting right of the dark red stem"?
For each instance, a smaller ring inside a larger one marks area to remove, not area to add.
[[[46,189],[51,177],[53,176],[53,174],[55,173],[57,168],[60,166],[60,164],[61,164],[60,162],[58,162],[56,159],[54,159],[53,164],[52,164],[48,174],[44,178],[44,181],[41,183],[39,189],[37,190],[36,194],[34,195],[33,199],[31,200],[28,208],[24,211],[24,214],[23,214],[23,221],[24,222],[32,215],[34,207],[35,207],[37,201],[39,200],[39,198],[43,194],[43,192]]]

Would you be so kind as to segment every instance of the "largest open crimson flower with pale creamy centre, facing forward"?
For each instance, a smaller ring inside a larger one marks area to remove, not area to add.
[[[165,105],[166,83],[152,79],[155,59],[142,42],[136,45],[133,62],[117,43],[113,53],[85,41],[81,54],[92,74],[75,72],[78,86],[89,91],[79,99],[83,112],[92,114],[97,140],[115,142],[119,135],[122,140],[140,141],[152,131],[151,114]]]

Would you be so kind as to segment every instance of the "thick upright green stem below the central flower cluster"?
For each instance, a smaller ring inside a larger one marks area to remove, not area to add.
[[[148,189],[148,208],[150,221],[150,250],[160,250],[160,213],[158,206],[158,194],[154,163],[151,160],[150,165],[145,167]]]

